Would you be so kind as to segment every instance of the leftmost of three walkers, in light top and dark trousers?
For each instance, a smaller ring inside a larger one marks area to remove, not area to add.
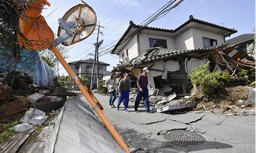
[[[105,81],[105,85],[108,88],[110,100],[109,100],[109,107],[114,108],[114,102],[117,97],[117,81],[116,81],[116,74],[112,73],[110,79]]]

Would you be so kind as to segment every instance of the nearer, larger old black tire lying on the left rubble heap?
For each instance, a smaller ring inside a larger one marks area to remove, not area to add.
[[[65,101],[58,96],[44,96],[37,103],[35,107],[44,112],[51,112],[58,110],[65,104]]]

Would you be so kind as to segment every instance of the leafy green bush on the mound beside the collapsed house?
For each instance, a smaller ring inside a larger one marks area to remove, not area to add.
[[[231,75],[227,71],[208,71],[208,64],[200,65],[188,74],[191,82],[196,84],[205,95],[210,95],[212,92],[223,89],[224,86],[232,81]]]

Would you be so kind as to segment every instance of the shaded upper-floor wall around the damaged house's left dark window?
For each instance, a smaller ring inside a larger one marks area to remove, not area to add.
[[[139,35],[140,55],[145,53],[146,49],[150,48],[149,38],[165,39],[168,49],[176,49],[175,39],[173,36],[166,36],[160,33],[158,35],[150,33],[141,33]]]

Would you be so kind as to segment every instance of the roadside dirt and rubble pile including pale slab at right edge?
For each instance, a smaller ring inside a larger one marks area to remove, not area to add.
[[[196,111],[210,111],[234,115],[255,114],[255,88],[236,86],[226,88],[226,92],[214,99],[199,98]]]

